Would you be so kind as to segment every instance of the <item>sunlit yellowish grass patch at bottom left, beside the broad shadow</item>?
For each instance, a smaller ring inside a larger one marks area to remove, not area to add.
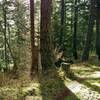
[[[34,100],[42,100],[40,83],[32,82],[27,87],[20,87],[20,88],[18,87],[17,88],[10,88],[10,87],[0,88],[0,96],[4,96],[4,97],[12,96],[14,99],[14,98],[23,97],[26,95],[29,95],[29,96],[35,95],[36,97],[33,96],[35,98]],[[28,97],[26,96],[25,98],[28,98]],[[25,99],[25,100],[33,100],[33,99]]]

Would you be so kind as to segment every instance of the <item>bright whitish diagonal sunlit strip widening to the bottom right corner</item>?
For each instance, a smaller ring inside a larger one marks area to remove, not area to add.
[[[58,71],[60,77],[61,71]],[[64,72],[62,72],[64,73]],[[63,74],[64,76],[64,74]],[[65,77],[65,76],[64,76]],[[72,81],[68,78],[63,78],[65,86],[73,92],[80,100],[100,100],[100,94],[96,91],[91,90],[87,86],[77,82]]]

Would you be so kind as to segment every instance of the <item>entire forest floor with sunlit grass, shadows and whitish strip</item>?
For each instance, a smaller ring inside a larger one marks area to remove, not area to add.
[[[62,68],[51,69],[37,78],[29,78],[30,68],[18,79],[0,73],[0,100],[100,100],[100,63],[71,65],[67,77]]]

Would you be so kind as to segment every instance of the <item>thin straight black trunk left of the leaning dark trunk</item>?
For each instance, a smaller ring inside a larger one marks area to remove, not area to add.
[[[77,60],[77,22],[78,22],[78,7],[76,7],[78,0],[75,0],[75,12],[74,12],[74,33],[73,33],[73,57]]]

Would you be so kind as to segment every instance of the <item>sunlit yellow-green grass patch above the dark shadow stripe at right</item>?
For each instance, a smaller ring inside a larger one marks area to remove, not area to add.
[[[91,64],[73,64],[71,70],[80,78],[100,78],[99,67]]]

